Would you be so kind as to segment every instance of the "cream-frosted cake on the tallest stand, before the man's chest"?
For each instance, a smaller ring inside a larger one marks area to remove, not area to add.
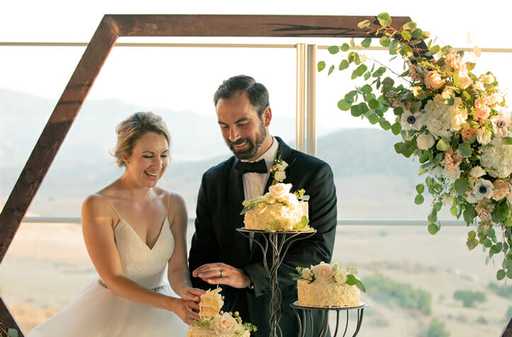
[[[242,213],[247,228],[271,231],[313,230],[308,218],[308,196],[303,189],[290,193],[292,184],[276,183],[264,195],[245,200]]]

